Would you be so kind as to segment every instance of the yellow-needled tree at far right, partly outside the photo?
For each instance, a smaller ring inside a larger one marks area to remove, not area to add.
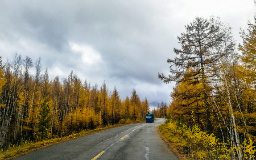
[[[256,4],[256,2],[255,2]],[[253,142],[256,142],[256,15],[254,23],[249,22],[247,30],[241,30],[240,36],[243,38],[243,43],[239,44],[239,50],[242,55],[239,56],[241,65],[236,69],[237,75],[244,80],[243,104],[241,110],[243,115],[239,114],[245,121],[244,128],[247,134],[250,135]]]

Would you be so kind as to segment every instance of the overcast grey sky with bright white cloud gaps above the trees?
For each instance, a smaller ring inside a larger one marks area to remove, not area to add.
[[[219,16],[240,43],[255,11],[253,0],[0,0],[0,56],[41,57],[51,79],[73,70],[92,85],[105,80],[122,100],[134,88],[153,108],[169,104],[173,84],[157,73],[168,74],[184,25]]]

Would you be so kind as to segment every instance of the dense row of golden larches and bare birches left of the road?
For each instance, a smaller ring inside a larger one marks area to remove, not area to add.
[[[68,78],[50,80],[42,60],[15,54],[3,64],[0,58],[0,150],[24,141],[67,136],[111,124],[144,120],[149,112],[147,97],[136,90],[120,100],[116,87],[109,91],[105,81],[82,82],[73,71]],[[30,69],[35,68],[35,74]]]

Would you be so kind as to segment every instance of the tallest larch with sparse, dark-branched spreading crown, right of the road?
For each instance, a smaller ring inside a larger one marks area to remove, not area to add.
[[[203,85],[204,106],[206,112],[206,129],[212,132],[211,108],[209,104],[210,78],[214,77],[214,66],[223,56],[234,51],[235,44],[232,41],[231,28],[226,27],[218,19],[211,17],[205,19],[197,17],[193,22],[185,26],[186,32],[178,36],[181,49],[174,48],[177,55],[171,64],[170,75],[158,73],[158,78],[165,83],[171,81],[182,82],[198,80]],[[225,44],[225,46],[223,46]],[[186,69],[193,68],[193,72],[187,74]]]

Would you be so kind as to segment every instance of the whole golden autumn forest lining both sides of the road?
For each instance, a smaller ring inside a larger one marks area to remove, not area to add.
[[[196,17],[178,36],[176,57],[167,60],[170,74],[158,73],[164,83],[176,84],[171,103],[158,104],[153,114],[166,118],[169,137],[188,140],[173,141],[191,157],[194,149],[194,159],[256,156],[256,16],[240,30],[241,44],[232,32],[219,17]],[[135,89],[120,100],[116,87],[109,91],[105,81],[91,85],[73,71],[67,78],[50,79],[41,61],[18,54],[5,63],[0,58],[0,150],[140,122],[149,111],[147,98],[141,100]]]

